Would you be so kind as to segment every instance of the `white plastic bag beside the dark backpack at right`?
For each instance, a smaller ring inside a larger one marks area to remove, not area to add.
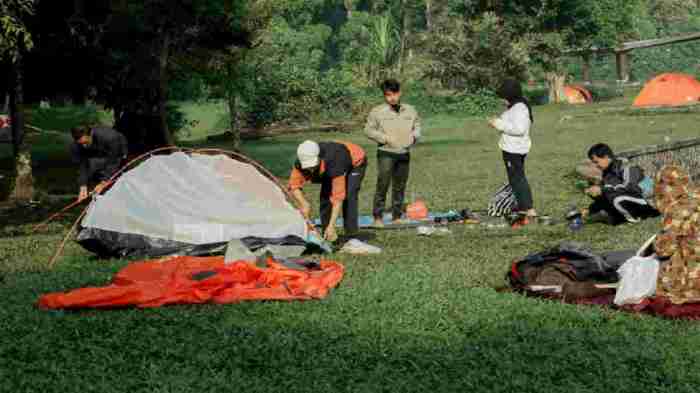
[[[627,260],[617,273],[620,283],[615,293],[615,304],[639,304],[656,293],[659,261],[653,257],[635,256]]]

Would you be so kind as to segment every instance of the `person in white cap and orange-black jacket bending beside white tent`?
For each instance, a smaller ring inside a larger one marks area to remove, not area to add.
[[[328,241],[338,238],[335,225],[342,209],[346,236],[358,232],[358,197],[365,177],[364,150],[349,142],[306,141],[297,148],[297,161],[289,176],[289,190],[306,219],[311,207],[302,189],[308,181],[321,184],[321,225]]]

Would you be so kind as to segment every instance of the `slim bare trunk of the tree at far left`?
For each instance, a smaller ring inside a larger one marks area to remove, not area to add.
[[[12,148],[15,157],[15,172],[10,183],[10,200],[30,201],[34,198],[32,176],[32,154],[24,138],[24,64],[20,51],[14,66],[14,86],[10,95],[12,124]]]

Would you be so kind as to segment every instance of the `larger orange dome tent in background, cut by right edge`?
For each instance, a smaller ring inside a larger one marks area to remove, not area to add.
[[[700,82],[687,74],[666,73],[647,82],[634,106],[680,106],[698,103]]]

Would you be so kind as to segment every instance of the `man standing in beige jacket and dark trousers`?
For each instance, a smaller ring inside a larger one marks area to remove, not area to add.
[[[374,226],[384,226],[386,193],[391,184],[391,215],[400,223],[408,182],[410,148],[421,138],[421,122],[413,106],[401,102],[401,85],[387,79],[381,85],[385,103],[370,111],[367,137],[377,142],[377,188],[374,194]]]

